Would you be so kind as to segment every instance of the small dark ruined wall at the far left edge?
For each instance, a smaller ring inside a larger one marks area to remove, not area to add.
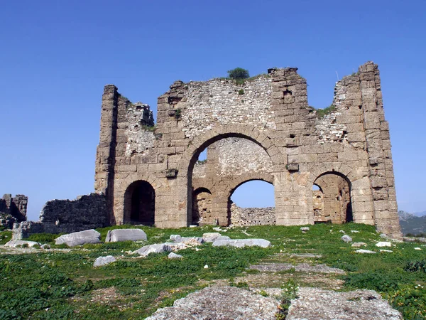
[[[26,221],[27,206],[27,196],[17,194],[12,197],[11,194],[5,194],[0,198],[0,225],[11,229],[13,223]]]

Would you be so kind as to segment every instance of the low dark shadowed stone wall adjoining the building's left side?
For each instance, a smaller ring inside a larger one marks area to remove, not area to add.
[[[107,225],[107,199],[102,194],[91,193],[75,200],[48,201],[39,221],[13,225],[13,238],[27,238],[31,233],[73,233]]]

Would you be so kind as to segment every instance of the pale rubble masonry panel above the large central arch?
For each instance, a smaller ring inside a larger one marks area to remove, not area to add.
[[[185,137],[197,137],[212,129],[212,124],[256,124],[261,131],[275,129],[271,82],[268,75],[243,85],[221,79],[189,82],[185,98],[176,105],[176,109],[185,110],[181,120]]]

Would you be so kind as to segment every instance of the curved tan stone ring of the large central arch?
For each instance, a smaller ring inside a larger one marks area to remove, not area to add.
[[[192,171],[194,169],[195,162],[197,161],[198,156],[200,156],[200,153],[207,148],[207,146],[219,141],[220,139],[230,137],[248,139],[261,146],[271,159],[273,172],[285,169],[287,158],[284,157],[278,147],[273,144],[272,139],[253,126],[235,124],[214,127],[213,129],[204,132],[204,134],[199,137],[195,137],[192,139],[192,142],[182,155],[182,160],[179,165],[180,177],[182,178],[181,183],[185,183],[187,187],[187,224],[189,224],[192,219]],[[271,180],[271,178],[268,178],[268,180]],[[217,218],[221,225],[226,225],[228,223],[226,208],[227,206],[224,207],[223,212],[215,213],[218,215]]]

